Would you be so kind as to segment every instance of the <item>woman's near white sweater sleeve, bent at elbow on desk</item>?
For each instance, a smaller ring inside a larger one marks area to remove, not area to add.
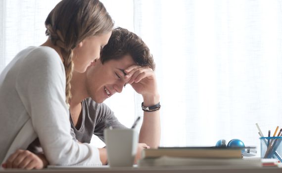
[[[55,50],[41,47],[22,62],[16,90],[51,165],[101,165],[99,151],[70,134],[65,71]]]

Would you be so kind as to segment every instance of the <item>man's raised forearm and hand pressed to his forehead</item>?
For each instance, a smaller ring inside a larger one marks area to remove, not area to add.
[[[143,106],[150,107],[159,103],[156,77],[152,69],[133,65],[125,70],[129,84],[143,97]],[[141,109],[141,105],[140,105]],[[144,111],[143,123],[139,134],[139,142],[146,143],[151,148],[160,144],[160,111]]]

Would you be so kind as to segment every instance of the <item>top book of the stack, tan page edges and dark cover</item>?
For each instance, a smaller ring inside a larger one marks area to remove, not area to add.
[[[227,147],[161,147],[144,149],[142,158],[157,158],[162,156],[186,158],[242,158],[244,148]]]

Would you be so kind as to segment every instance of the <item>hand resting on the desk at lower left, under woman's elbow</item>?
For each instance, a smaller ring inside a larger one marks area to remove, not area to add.
[[[48,165],[47,159],[44,154],[34,154],[28,150],[17,150],[10,155],[7,161],[2,164],[5,169],[17,168],[17,169],[43,169]]]

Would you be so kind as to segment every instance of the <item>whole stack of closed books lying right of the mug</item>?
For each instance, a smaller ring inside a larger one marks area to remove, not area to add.
[[[140,167],[151,166],[236,166],[261,167],[261,160],[243,159],[242,148],[162,147],[144,149]]]

